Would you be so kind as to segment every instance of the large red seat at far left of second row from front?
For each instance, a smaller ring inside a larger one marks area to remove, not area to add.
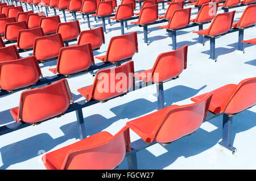
[[[16,123],[38,123],[63,114],[73,103],[67,79],[61,79],[51,85],[23,91],[19,107],[10,110]]]

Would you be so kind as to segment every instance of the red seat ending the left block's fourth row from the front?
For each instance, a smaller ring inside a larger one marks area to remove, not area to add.
[[[92,49],[99,49],[102,44],[105,44],[103,27],[94,28],[92,30],[81,31],[77,45],[90,43]]]

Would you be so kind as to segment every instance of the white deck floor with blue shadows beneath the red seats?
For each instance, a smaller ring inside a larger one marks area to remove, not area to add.
[[[118,4],[120,2],[118,1]],[[167,5],[165,6],[167,9]],[[196,17],[197,9],[192,7],[192,18]],[[26,10],[23,7],[24,10]],[[236,9],[234,22],[237,22],[245,7]],[[138,11],[138,4],[137,4]],[[35,12],[36,9],[35,9]],[[159,14],[164,14],[162,4],[159,4]],[[220,8],[218,13],[223,12]],[[52,9],[49,15],[53,15]],[[63,14],[60,15],[61,22]],[[66,13],[67,20],[73,20],[70,13]],[[88,30],[86,20],[77,14],[81,31]],[[94,22],[90,18],[92,28],[102,26],[102,22]],[[106,53],[109,40],[112,36],[121,35],[120,23],[112,21],[109,26],[106,20],[108,33],[105,34],[105,45],[94,51],[94,56]],[[139,52],[133,57],[135,71],[151,69],[158,54],[172,50],[172,40],[165,30],[150,26],[148,40],[150,45],[143,43],[143,28],[129,23],[129,30],[138,32]],[[204,28],[209,27],[210,23]],[[187,44],[188,65],[181,73],[180,78],[164,83],[164,99],[166,106],[172,104],[192,103],[190,98],[229,83],[238,83],[242,79],[256,75],[256,46],[245,45],[245,53],[237,49],[238,32],[229,33],[216,39],[217,62],[208,60],[209,40],[205,46],[197,44],[197,34],[192,31],[197,27],[177,31],[177,48]],[[256,27],[245,30],[244,40],[256,37]],[[76,44],[76,42],[71,43]],[[32,51],[20,53],[22,57],[31,55]],[[55,68],[57,61],[40,64],[44,77],[53,74],[49,68]],[[96,63],[100,62],[96,60]],[[91,74],[77,75],[68,78],[68,83],[75,101],[84,100],[77,89],[92,85],[94,78]],[[10,108],[18,107],[20,93],[2,96],[0,98],[0,125],[13,121]],[[254,92],[255,94],[255,92]],[[82,109],[86,132],[90,135],[108,131],[115,134],[127,121],[156,111],[156,86],[151,85],[141,90],[98,103]],[[41,161],[42,153],[53,151],[63,146],[79,141],[79,133],[75,112],[67,113],[56,119],[46,121],[36,126],[30,126],[18,131],[0,136],[0,169],[45,169]],[[131,131],[131,141],[139,137]],[[138,169],[256,169],[256,107],[243,111],[233,118],[233,146],[237,153],[232,155],[218,145],[222,139],[222,117],[219,116],[205,122],[191,136],[181,138],[170,145],[156,144],[137,153]],[[126,159],[118,169],[127,169]]]

